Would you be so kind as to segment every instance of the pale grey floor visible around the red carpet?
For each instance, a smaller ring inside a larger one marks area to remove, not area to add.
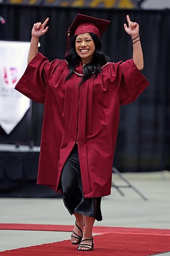
[[[169,229],[170,172],[123,175],[148,200],[142,200],[131,188],[122,189],[125,197],[112,188],[112,194],[102,199],[103,221],[95,225]],[[115,174],[113,180],[116,185],[125,184]],[[0,205],[0,223],[74,224],[62,199],[1,198]],[[0,230],[0,236],[0,251],[4,251],[69,239],[70,233]]]

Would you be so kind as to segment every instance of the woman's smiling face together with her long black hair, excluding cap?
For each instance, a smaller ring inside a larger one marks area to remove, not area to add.
[[[101,41],[96,34],[90,32],[75,35],[71,42],[69,54],[65,58],[70,71],[66,80],[71,77],[80,62],[83,66],[83,78],[80,84],[93,73],[96,78],[101,72],[101,67],[110,59],[105,53],[101,52],[101,48]]]

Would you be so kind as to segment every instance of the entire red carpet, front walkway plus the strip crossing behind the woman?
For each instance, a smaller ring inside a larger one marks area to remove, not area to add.
[[[0,229],[11,230],[46,230],[71,231],[73,226],[41,225],[41,224],[0,224]],[[94,250],[78,252],[77,246],[70,241],[61,241],[50,244],[30,246],[0,252],[0,255],[17,256],[47,256],[47,255],[114,255],[114,256],[146,256],[155,253],[170,251],[169,229],[124,228],[94,226],[94,233],[103,233],[94,236]]]

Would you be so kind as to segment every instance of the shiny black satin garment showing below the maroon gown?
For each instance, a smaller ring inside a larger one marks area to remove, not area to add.
[[[77,212],[102,221],[101,197],[84,198],[77,144],[64,164],[61,184],[63,202],[71,215]]]

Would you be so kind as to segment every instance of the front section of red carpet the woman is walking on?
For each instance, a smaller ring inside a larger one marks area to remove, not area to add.
[[[0,252],[0,255],[103,255],[145,256],[170,250],[169,235],[107,233],[94,237],[94,250],[78,252],[70,241],[43,244]]]

